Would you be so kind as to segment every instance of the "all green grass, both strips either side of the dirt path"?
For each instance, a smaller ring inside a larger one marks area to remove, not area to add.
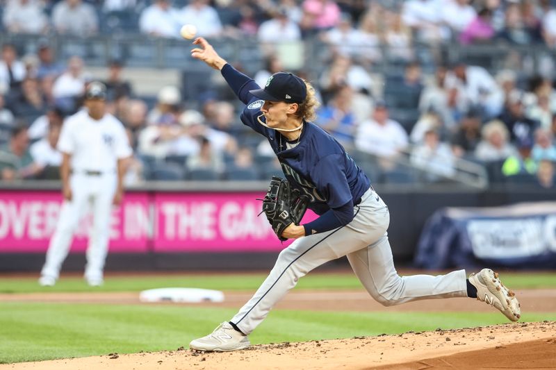
[[[505,274],[513,289],[556,287],[556,274]],[[252,290],[263,274],[217,276],[114,276],[100,289],[81,278],[40,288],[35,278],[0,278],[0,292],[131,292],[154,287]],[[313,274],[296,289],[358,289],[352,274]],[[0,302],[0,363],[108,353],[175,350],[206,335],[236,310],[174,305]],[[523,321],[556,320],[556,312],[525,313]],[[332,339],[407,330],[462,328],[507,322],[498,312],[312,312],[273,310],[250,336],[253,343]]]

